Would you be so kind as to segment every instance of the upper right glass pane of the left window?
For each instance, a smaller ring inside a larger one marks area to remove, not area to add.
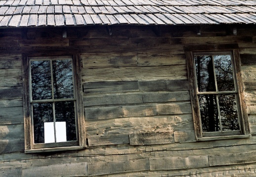
[[[73,98],[73,72],[71,59],[53,60],[54,98]]]

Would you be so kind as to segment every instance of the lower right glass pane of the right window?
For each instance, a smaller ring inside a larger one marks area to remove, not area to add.
[[[221,94],[218,97],[222,131],[240,130],[235,94]]]

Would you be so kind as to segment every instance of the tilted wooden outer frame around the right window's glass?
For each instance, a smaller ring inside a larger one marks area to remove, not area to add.
[[[239,114],[240,130],[238,131],[227,131],[227,132],[203,132],[200,108],[198,100],[198,90],[195,75],[194,55],[218,55],[226,54],[231,55],[232,66],[234,70],[234,82],[236,88],[236,94],[239,100],[237,103],[237,110]],[[250,127],[248,121],[248,113],[245,104],[245,94],[243,88],[243,82],[241,78],[241,61],[239,57],[238,46],[235,44],[230,45],[193,45],[185,47],[186,63],[188,71],[188,81],[190,89],[190,100],[192,106],[192,116],[194,122],[194,129],[197,141],[209,141],[209,140],[220,140],[220,139],[234,139],[234,138],[249,138]]]

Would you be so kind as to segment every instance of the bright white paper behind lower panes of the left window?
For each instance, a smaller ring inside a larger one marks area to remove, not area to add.
[[[56,142],[66,142],[66,122],[55,122]],[[54,125],[53,122],[44,122],[44,143],[54,143]]]

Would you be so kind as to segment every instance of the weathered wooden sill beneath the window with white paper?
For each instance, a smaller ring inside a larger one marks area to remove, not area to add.
[[[87,147],[86,146],[72,146],[72,147],[57,147],[57,148],[36,148],[36,149],[25,150],[25,153],[80,150],[80,149],[85,149],[85,148],[87,148]]]

